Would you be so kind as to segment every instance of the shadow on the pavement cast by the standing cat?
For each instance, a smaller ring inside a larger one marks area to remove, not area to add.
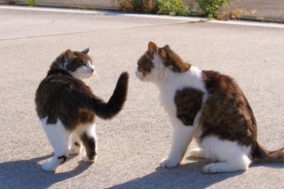
[[[52,154],[49,154],[30,160],[1,162],[1,188],[47,188],[68,178],[75,177],[91,166],[91,163],[79,161],[78,166],[68,172],[54,173],[43,171],[38,162],[49,159],[52,156]]]

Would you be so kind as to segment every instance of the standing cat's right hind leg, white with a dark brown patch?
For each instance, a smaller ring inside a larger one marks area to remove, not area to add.
[[[83,161],[96,161],[98,151],[96,124],[87,124],[84,127],[85,130],[80,137],[86,150],[86,156],[83,156]]]

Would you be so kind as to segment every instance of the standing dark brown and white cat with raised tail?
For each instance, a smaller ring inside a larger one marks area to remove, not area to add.
[[[69,154],[80,154],[82,144],[86,150],[83,161],[95,161],[98,154],[95,115],[111,119],[122,110],[126,100],[127,72],[120,75],[107,103],[83,82],[95,71],[89,52],[90,48],[62,52],[36,90],[36,113],[54,151],[51,161],[43,163],[43,170],[55,171]]]

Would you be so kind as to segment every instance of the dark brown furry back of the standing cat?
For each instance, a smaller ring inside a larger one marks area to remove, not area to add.
[[[83,81],[61,71],[49,73],[36,90],[36,112],[40,118],[74,112],[83,95],[92,95]]]

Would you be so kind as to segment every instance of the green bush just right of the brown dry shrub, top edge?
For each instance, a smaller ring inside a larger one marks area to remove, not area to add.
[[[170,14],[177,16],[190,15],[190,7],[182,0],[157,0],[158,14]]]

